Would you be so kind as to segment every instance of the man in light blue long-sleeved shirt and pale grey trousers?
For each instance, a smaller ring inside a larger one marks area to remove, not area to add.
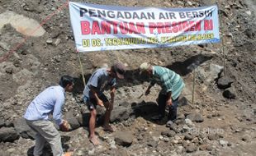
[[[62,76],[58,86],[50,86],[38,94],[26,109],[26,123],[36,131],[36,145],[33,154],[40,156],[43,153],[45,142],[50,144],[54,156],[69,156],[71,153],[63,152],[59,131],[50,122],[49,115],[63,131],[69,131],[69,124],[62,119],[61,109],[64,105],[65,92],[73,89],[73,78]]]

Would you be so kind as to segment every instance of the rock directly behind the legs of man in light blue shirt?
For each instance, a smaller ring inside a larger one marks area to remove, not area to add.
[[[21,135],[21,137],[26,139],[36,138],[36,132],[33,131],[31,127],[26,124],[26,121],[23,117],[18,118],[17,120],[14,121],[14,127],[15,127],[15,130],[17,131],[17,134]]]

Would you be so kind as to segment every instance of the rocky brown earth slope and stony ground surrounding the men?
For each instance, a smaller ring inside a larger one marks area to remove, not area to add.
[[[99,117],[97,134],[102,145],[97,147],[88,141],[88,110],[80,102],[83,80],[65,2],[0,0],[0,155],[32,154],[35,134],[21,116],[36,94],[56,84],[64,74],[76,80],[64,105],[64,118],[73,131],[61,132],[64,150],[73,150],[74,155],[256,155],[255,1],[84,1],[130,7],[217,3],[224,36],[223,44],[80,53],[86,79],[98,67],[117,61],[128,68],[126,80],[118,84],[111,116],[117,131],[102,131]],[[31,34],[40,24],[42,27]],[[166,120],[149,119],[155,113],[159,87],[139,99],[148,85],[145,77],[138,75],[138,67],[145,60],[177,71],[186,82],[178,120],[171,126]],[[193,63],[198,65],[196,69]],[[51,155],[49,146],[45,155]]]

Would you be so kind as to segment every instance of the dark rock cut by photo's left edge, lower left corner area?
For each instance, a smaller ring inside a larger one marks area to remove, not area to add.
[[[13,142],[18,138],[19,135],[13,127],[2,127],[0,129],[0,142]]]

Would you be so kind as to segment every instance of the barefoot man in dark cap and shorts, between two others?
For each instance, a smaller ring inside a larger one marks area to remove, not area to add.
[[[92,76],[83,90],[83,101],[87,104],[91,115],[89,119],[89,140],[93,145],[99,145],[99,141],[95,135],[97,105],[101,107],[104,106],[107,109],[104,115],[103,130],[111,132],[114,131],[109,125],[109,121],[114,103],[116,79],[123,79],[125,72],[125,66],[121,62],[116,63],[111,68],[100,68],[92,73]],[[107,87],[110,87],[110,101],[107,99],[105,94],[103,94],[103,91],[107,89]]]

